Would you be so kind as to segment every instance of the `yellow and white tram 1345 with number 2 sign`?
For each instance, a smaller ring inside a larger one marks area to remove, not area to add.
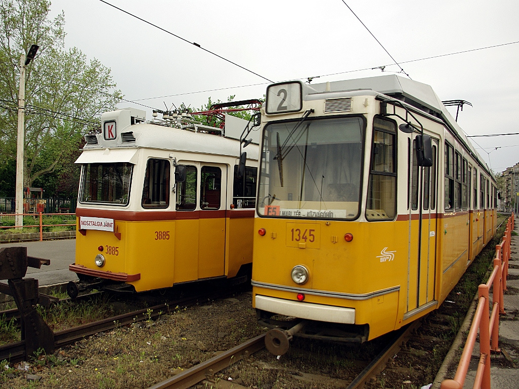
[[[274,354],[431,312],[496,231],[495,178],[428,85],[282,82],[261,121],[253,306]]]

